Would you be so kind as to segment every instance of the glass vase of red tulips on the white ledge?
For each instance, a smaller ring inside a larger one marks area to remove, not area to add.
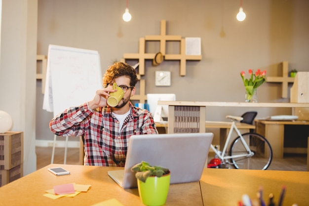
[[[253,73],[252,69],[249,69],[249,79],[245,79],[245,72],[242,71],[240,73],[241,79],[245,86],[245,102],[258,102],[257,97],[257,88],[261,86],[265,82],[266,71],[261,72],[258,69],[255,73]]]

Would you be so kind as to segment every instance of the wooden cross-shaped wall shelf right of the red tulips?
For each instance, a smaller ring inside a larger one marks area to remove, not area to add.
[[[282,77],[266,77],[266,82],[282,83],[282,98],[288,98],[288,83],[294,82],[294,77],[289,77],[288,62],[284,61],[282,64]]]

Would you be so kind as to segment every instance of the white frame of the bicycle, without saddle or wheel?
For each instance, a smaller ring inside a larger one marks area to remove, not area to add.
[[[236,133],[238,134],[238,136],[240,136],[240,140],[243,144],[243,146],[245,147],[247,153],[245,154],[239,154],[239,155],[232,155],[232,156],[226,156],[225,155],[225,152],[227,151],[227,148],[228,148],[228,145],[229,145],[229,142],[230,142],[230,139],[232,137],[232,131],[235,130]],[[224,144],[224,148],[223,148],[223,151],[222,153],[220,154],[220,151],[217,150],[213,145],[210,145],[211,149],[216,153],[216,155],[219,157],[220,160],[227,160],[227,159],[232,159],[232,158],[240,158],[240,157],[252,157],[254,155],[254,153],[250,150],[247,142],[244,140],[244,138],[242,137],[239,129],[237,128],[236,124],[235,124],[235,121],[232,121],[232,125],[230,127],[230,131],[229,131],[229,134],[228,134],[228,137],[227,137],[227,140],[225,141],[225,144]]]

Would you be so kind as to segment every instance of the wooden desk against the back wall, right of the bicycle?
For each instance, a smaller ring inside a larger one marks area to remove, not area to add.
[[[284,125],[309,125],[305,121],[265,121],[256,120],[257,133],[270,142],[273,158],[283,158]]]

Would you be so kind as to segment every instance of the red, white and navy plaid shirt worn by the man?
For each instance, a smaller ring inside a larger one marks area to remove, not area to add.
[[[57,115],[49,127],[58,136],[84,136],[84,165],[124,166],[131,135],[158,133],[147,110],[133,107],[131,102],[130,108],[120,132],[110,107],[92,111],[87,103]]]

